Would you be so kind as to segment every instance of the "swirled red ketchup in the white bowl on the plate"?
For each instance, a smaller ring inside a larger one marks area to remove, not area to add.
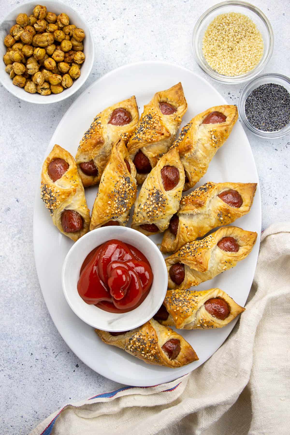
[[[152,269],[142,252],[114,239],[87,255],[77,291],[87,304],[111,313],[126,313],[143,302],[152,281]]]

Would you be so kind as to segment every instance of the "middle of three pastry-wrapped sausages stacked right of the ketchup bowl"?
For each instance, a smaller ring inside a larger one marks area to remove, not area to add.
[[[236,266],[250,254],[257,233],[238,227],[222,227],[185,244],[166,258],[168,287],[185,290]]]

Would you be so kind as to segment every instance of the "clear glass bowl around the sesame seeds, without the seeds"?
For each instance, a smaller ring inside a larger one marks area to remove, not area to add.
[[[229,12],[243,13],[244,15],[247,15],[247,17],[249,17],[256,24],[257,29],[260,30],[264,43],[264,52],[259,64],[248,73],[233,77],[219,74],[217,71],[213,70],[205,60],[202,50],[203,36],[208,25],[215,17],[217,17],[217,15]],[[260,11],[260,9],[250,3],[243,1],[225,1],[211,7],[205,13],[203,13],[199,20],[197,20],[192,34],[192,50],[197,64],[210,77],[223,83],[244,83],[260,74],[272,56],[273,46],[274,36],[269,20],[263,14],[263,12]]]

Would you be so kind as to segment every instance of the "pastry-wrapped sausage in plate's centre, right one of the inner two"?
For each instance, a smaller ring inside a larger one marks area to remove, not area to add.
[[[132,228],[150,236],[168,228],[178,210],[184,171],[177,149],[164,154],[144,181],[135,202]]]

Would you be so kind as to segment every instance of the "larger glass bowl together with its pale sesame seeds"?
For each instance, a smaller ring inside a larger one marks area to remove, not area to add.
[[[225,1],[208,9],[193,29],[192,49],[211,78],[240,84],[260,74],[273,52],[269,20],[257,7]]]

